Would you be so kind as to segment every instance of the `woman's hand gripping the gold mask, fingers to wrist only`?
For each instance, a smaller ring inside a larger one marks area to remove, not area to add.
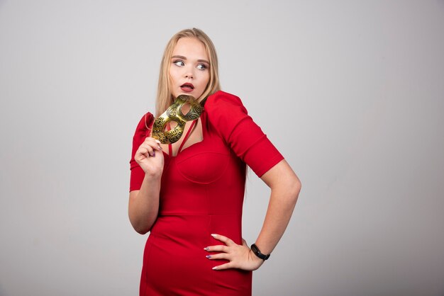
[[[158,175],[163,171],[163,153],[160,142],[153,137],[146,137],[134,155],[135,161],[145,174]]]

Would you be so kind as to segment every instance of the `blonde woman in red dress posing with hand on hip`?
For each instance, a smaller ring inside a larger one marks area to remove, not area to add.
[[[140,295],[251,295],[252,271],[282,237],[301,185],[240,99],[220,91],[216,50],[196,28],[165,49],[156,115],[184,94],[204,111],[179,141],[151,137],[150,113],[133,137],[128,212],[137,232],[150,232]],[[246,165],[271,188],[252,249],[241,234]]]

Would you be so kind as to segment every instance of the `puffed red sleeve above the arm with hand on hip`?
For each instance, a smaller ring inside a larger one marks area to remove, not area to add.
[[[205,110],[210,124],[257,176],[261,177],[284,159],[237,96],[218,91],[209,96]]]

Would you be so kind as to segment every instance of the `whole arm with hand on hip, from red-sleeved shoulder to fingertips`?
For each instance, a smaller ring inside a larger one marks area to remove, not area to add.
[[[248,115],[240,98],[219,91],[207,99],[205,108],[209,122],[233,152],[271,188],[267,215],[256,241],[262,254],[268,254],[277,245],[289,223],[301,183],[284,157]],[[215,269],[255,270],[263,263],[245,241],[238,245],[222,235],[213,237],[226,245],[205,248],[207,251],[222,252],[211,254],[209,258],[230,261]]]

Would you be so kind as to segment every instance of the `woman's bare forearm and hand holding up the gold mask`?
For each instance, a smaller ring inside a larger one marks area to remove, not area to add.
[[[164,163],[162,149],[156,140],[147,137],[135,152],[134,159],[145,172],[145,176],[140,190],[130,192],[128,216],[135,231],[145,234],[150,231],[159,212],[160,181]]]

